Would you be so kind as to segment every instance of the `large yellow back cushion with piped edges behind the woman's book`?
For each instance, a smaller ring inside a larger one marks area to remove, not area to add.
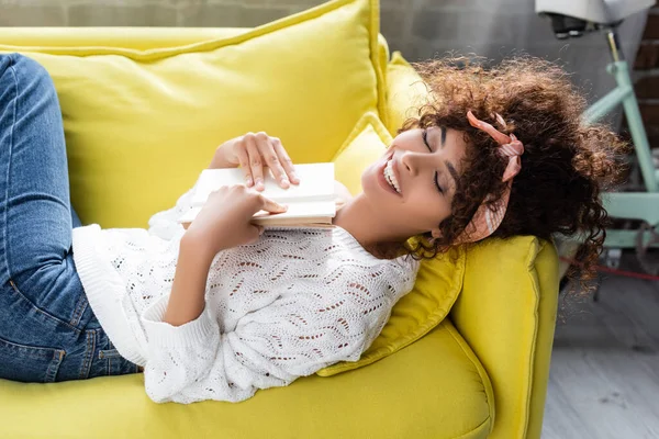
[[[377,0],[335,0],[201,43],[0,52],[53,76],[82,222],[143,227],[246,132],[281,137],[295,162],[331,160],[365,112],[383,110],[378,12]]]

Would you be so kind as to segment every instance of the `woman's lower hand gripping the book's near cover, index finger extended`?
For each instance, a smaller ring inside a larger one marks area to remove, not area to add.
[[[263,227],[252,224],[258,211],[286,212],[287,207],[243,184],[222,187],[209,195],[188,226],[183,240],[213,258],[217,252],[258,240]]]

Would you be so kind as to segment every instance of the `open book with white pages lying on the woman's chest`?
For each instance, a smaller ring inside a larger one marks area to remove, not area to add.
[[[265,190],[260,193],[280,204],[288,205],[284,213],[270,214],[259,211],[254,215],[254,224],[263,226],[330,226],[336,215],[336,195],[334,193],[334,164],[295,165],[295,173],[300,184],[291,184],[283,189],[266,168],[264,177]],[[242,169],[204,169],[192,195],[192,206],[179,219],[179,223],[191,223],[201,212],[209,194],[223,185],[245,182]]]

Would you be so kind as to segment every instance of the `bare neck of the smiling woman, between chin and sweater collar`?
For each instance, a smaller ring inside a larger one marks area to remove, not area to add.
[[[371,254],[382,243],[402,243],[407,238],[393,233],[393,227],[386,218],[378,217],[364,194],[346,202],[336,212],[333,224],[346,229]]]

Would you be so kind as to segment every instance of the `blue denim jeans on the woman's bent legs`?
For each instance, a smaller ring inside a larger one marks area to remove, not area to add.
[[[53,81],[0,55],[0,378],[24,382],[135,373],[87,302],[71,250],[66,146]]]

